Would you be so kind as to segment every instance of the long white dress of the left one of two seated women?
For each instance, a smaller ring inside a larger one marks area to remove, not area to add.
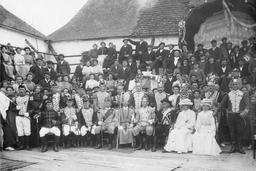
[[[194,130],[196,114],[193,110],[183,110],[179,113],[174,129],[170,131],[164,149],[178,153],[192,151],[192,133]]]

